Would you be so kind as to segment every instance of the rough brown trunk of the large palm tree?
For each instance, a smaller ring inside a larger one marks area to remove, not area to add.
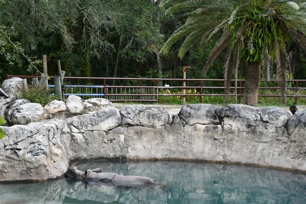
[[[257,106],[260,66],[259,62],[250,62],[245,71],[244,104]]]

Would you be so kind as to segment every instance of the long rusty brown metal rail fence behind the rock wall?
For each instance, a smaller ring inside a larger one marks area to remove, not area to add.
[[[22,79],[39,78],[37,76],[27,75],[7,75],[7,79],[12,77],[19,77]],[[53,77],[49,77],[53,79]],[[90,81],[90,85],[86,85]],[[198,96],[200,103],[202,103],[203,96],[225,96],[223,82],[221,79],[147,79],[147,78],[97,78],[97,77],[65,77],[64,82],[66,85],[65,96],[79,95],[83,99],[94,96],[104,97],[110,101],[143,101],[158,103],[159,97],[168,96]],[[114,86],[108,85],[115,82]],[[170,85],[163,86],[161,82],[167,82]],[[190,86],[183,86],[183,82],[190,83]],[[232,94],[237,98],[238,103],[241,103],[243,97],[245,80],[238,80],[237,87],[233,86],[232,80]],[[264,82],[261,80],[260,82]],[[52,83],[50,81],[49,83]],[[78,83],[79,85],[71,85]],[[212,84],[210,86],[210,84]],[[220,83],[221,86],[215,85]],[[277,80],[270,80],[270,86],[262,85],[259,89],[278,90],[276,86]],[[70,84],[70,85],[69,85]],[[180,84],[182,86],[180,86]],[[275,85],[275,86],[274,86]],[[287,90],[295,90],[294,94],[288,93],[287,97],[294,97],[295,103],[298,103],[298,98],[306,97],[306,95],[299,94],[299,91],[306,90],[306,80],[288,80]],[[196,89],[196,93],[183,94],[183,90]],[[177,93],[170,93],[169,90],[182,90]],[[215,93],[217,92],[217,93]],[[261,97],[281,97],[280,94],[259,94]]]

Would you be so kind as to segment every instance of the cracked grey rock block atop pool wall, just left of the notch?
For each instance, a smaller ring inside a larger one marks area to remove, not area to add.
[[[125,126],[157,127],[167,124],[168,112],[159,106],[128,106],[120,109]]]

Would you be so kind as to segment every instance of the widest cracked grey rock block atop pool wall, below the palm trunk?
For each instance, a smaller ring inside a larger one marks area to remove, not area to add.
[[[247,105],[228,105],[216,112],[223,126],[231,126],[227,133],[261,142],[270,142],[283,134],[287,120],[292,117],[282,108]]]

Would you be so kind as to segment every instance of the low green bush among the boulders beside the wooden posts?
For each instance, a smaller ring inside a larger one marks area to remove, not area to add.
[[[28,90],[22,90],[19,98],[28,99],[31,103],[41,104],[42,107],[53,100],[58,100],[56,95],[51,95],[50,90],[34,86]]]

